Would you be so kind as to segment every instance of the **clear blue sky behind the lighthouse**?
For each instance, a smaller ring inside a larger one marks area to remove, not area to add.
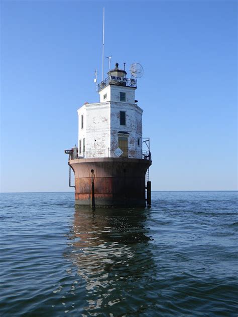
[[[99,101],[103,7],[111,65],[144,68],[152,190],[237,190],[236,1],[2,0],[1,191],[72,191],[64,150]]]

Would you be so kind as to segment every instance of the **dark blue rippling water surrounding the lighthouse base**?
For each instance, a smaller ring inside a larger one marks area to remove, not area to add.
[[[1,317],[237,316],[237,192],[95,212],[73,193],[1,200]]]

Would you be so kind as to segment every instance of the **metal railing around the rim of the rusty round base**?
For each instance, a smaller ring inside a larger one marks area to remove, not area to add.
[[[83,153],[78,153],[78,156],[75,155],[73,150],[65,150],[66,154],[69,154],[69,160],[75,160],[76,158],[100,158],[100,157],[128,157],[128,158],[143,158],[144,160],[151,161],[151,152],[142,151],[128,148],[118,147],[115,150],[110,150],[109,148],[95,149],[89,148]]]

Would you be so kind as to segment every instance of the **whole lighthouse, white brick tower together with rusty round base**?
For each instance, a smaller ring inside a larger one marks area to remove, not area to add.
[[[86,102],[77,111],[78,146],[65,153],[69,171],[74,172],[78,206],[145,207],[146,201],[150,205],[152,158],[149,139],[142,135],[143,110],[135,99],[133,65],[128,78],[125,64],[120,69],[116,63],[98,84],[100,101]]]

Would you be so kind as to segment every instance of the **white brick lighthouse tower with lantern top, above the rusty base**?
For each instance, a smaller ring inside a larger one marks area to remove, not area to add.
[[[79,156],[142,156],[142,112],[135,103],[136,79],[115,68],[99,86],[100,102],[78,109]]]

